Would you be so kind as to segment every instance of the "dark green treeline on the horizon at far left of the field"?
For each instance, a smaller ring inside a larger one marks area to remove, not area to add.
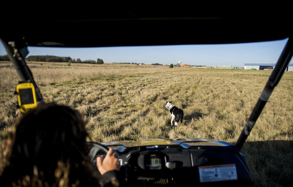
[[[70,56],[54,56],[54,55],[30,55],[25,58],[26,61],[35,62],[69,62],[69,63],[83,63],[83,64],[103,64],[103,59],[97,60],[80,60],[79,58],[71,58]],[[0,61],[10,61],[8,55],[0,55]]]

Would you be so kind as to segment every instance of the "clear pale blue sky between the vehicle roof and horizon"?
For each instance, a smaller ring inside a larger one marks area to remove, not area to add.
[[[81,60],[97,58],[105,63],[178,63],[189,65],[231,65],[244,63],[276,63],[288,39],[243,44],[173,45],[100,48],[28,47],[29,55],[70,56]],[[0,55],[6,54],[0,44]],[[292,60],[291,60],[292,62]],[[290,62],[290,63],[291,63]]]

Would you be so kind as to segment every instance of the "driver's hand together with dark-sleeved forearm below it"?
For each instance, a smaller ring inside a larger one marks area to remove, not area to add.
[[[110,148],[104,160],[103,156],[97,157],[97,167],[102,175],[101,186],[116,186],[120,185],[118,180],[118,171],[120,169],[120,162],[117,154]]]

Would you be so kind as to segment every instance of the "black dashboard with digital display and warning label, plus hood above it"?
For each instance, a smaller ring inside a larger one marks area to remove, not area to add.
[[[246,157],[226,142],[180,139],[164,140],[161,145],[158,141],[140,142],[140,146],[133,141],[132,146],[123,141],[102,144],[117,151],[119,177],[125,186],[253,185]]]

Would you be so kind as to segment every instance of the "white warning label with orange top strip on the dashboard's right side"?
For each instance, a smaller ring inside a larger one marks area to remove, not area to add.
[[[237,180],[235,164],[199,166],[200,182]]]

